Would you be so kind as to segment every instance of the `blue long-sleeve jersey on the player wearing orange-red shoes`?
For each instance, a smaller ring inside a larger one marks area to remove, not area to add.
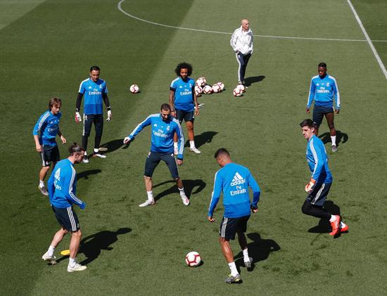
[[[317,183],[332,183],[324,143],[318,136],[313,135],[307,141],[306,160],[312,173],[312,179],[315,179]]]

